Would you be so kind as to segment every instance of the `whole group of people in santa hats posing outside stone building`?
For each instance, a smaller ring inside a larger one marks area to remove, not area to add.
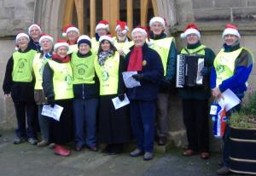
[[[55,154],[69,156],[71,150],[66,145],[74,139],[77,151],[84,146],[96,151],[98,144],[105,144],[103,152],[118,154],[134,136],[137,147],[130,156],[143,155],[144,160],[151,160],[154,136],[158,145],[166,145],[168,102],[177,90],[177,54],[200,54],[206,60],[200,73],[203,86],[178,88],[189,144],[183,156],[200,152],[202,159],[209,158],[209,99],[221,98],[228,88],[243,98],[253,54],[240,46],[240,33],[232,24],[225,26],[224,45],[217,55],[201,43],[195,24],[183,31],[181,37],[187,46],[179,52],[174,37],[166,36],[163,18],[153,17],[149,26],[149,32],[142,26],[134,28],[131,39],[125,21],[117,21],[116,37],[111,37],[106,20],[97,24],[93,38],[67,26],[62,34],[67,41],[57,43],[37,24],[28,28],[28,35],[19,33],[15,38],[17,50],[8,61],[3,82],[5,97],[11,96],[15,103],[18,128],[14,143],[27,139],[32,145],[50,144]],[[125,71],[134,71],[131,77],[140,86],[126,88]],[[120,101],[128,98],[130,105],[115,110],[112,99],[116,97]],[[43,105],[61,105],[60,121],[43,116]],[[228,116],[239,107],[231,109]],[[229,150],[228,126],[219,174],[229,172]]]

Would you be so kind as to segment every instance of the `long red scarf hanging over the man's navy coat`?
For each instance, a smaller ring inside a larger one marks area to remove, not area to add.
[[[130,54],[130,60],[127,71],[142,71],[143,70],[143,48],[134,47]]]

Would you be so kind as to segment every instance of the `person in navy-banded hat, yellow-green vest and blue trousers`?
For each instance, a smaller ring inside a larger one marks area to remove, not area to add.
[[[96,53],[91,51],[90,37],[80,36],[79,51],[72,54],[73,111],[75,124],[75,150],[86,145],[96,151],[96,110],[98,106],[98,78],[94,67]]]

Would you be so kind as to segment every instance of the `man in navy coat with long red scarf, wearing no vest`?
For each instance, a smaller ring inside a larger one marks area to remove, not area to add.
[[[137,149],[130,156],[143,155],[145,161],[153,158],[154,150],[154,117],[155,105],[164,69],[160,55],[148,48],[147,31],[137,27],[131,31],[134,46],[126,55],[126,71],[137,71],[134,79],[141,86],[128,88],[128,98],[131,100],[131,128],[137,139]]]

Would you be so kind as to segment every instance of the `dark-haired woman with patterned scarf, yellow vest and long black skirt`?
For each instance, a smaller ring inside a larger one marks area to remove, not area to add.
[[[104,152],[118,154],[124,143],[131,139],[128,106],[114,109],[112,99],[125,99],[125,58],[113,46],[113,38],[102,36],[99,40],[98,58],[95,60],[96,74],[100,81],[99,143],[107,144]]]

